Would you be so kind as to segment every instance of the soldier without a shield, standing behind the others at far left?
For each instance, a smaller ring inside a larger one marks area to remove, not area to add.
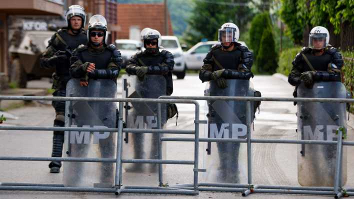
[[[42,68],[55,67],[52,88],[55,89],[53,96],[65,96],[65,87],[70,79],[69,58],[71,52],[78,45],[87,42],[86,32],[83,27],[86,20],[86,13],[80,5],[71,5],[65,13],[66,27],[59,29],[51,39],[46,50],[40,58]],[[65,101],[53,101],[55,109],[54,126],[64,126]],[[52,157],[61,157],[64,140],[63,131],[54,131]],[[52,161],[49,163],[51,173],[59,172],[61,162]]]

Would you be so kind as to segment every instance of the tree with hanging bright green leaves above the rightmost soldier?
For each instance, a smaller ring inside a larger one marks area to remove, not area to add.
[[[353,0],[281,0],[280,16],[295,43],[306,44],[308,34],[300,36],[303,30],[321,25],[329,30],[330,43],[344,49],[354,46]]]

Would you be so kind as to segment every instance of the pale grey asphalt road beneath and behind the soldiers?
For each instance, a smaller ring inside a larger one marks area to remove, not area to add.
[[[118,82],[120,82],[118,80]],[[292,97],[293,87],[286,81],[274,76],[255,76],[253,87],[262,96]],[[118,83],[120,85],[120,83]],[[174,79],[172,95],[203,95],[205,83],[197,75],[187,75],[183,80]],[[121,90],[118,89],[118,94]],[[205,102],[199,101],[200,119],[206,119]],[[178,104],[179,117],[177,126],[175,118],[167,123],[169,129],[193,129],[193,105]],[[296,107],[292,102],[262,102],[260,112],[256,114],[252,138],[296,139]],[[45,103],[33,103],[13,109],[9,113],[17,119],[9,119],[2,125],[41,125],[51,126],[54,119],[53,108]],[[205,124],[200,126],[200,136],[204,136]],[[170,137],[191,137],[190,135],[165,135]],[[5,131],[0,130],[0,156],[50,156],[51,137],[49,131]],[[352,135],[349,135],[352,140]],[[354,147],[347,148],[348,178],[347,186],[354,186]],[[192,142],[167,142],[166,159],[192,160]],[[205,144],[200,143],[199,167],[203,168]],[[252,144],[253,183],[273,185],[298,185],[297,182],[297,145],[296,144]],[[48,162],[1,161],[0,182],[27,183],[62,183],[62,172],[49,173]],[[169,185],[191,183],[193,179],[191,165],[167,164],[164,169],[164,182]],[[200,174],[199,174],[200,175]],[[202,176],[199,176],[202,179]],[[156,176],[131,176],[123,173],[123,184],[157,185]],[[0,191],[0,198],[115,198],[111,193],[72,193],[50,191]],[[199,196],[121,194],[120,198],[241,198],[240,193],[200,192]],[[332,196],[251,194],[249,198],[332,198]]]

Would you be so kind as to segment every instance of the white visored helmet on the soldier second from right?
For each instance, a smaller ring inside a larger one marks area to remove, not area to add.
[[[224,23],[218,31],[218,41],[222,42],[236,42],[239,38],[239,30],[234,23]]]

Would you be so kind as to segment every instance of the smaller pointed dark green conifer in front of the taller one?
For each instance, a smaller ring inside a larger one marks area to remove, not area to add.
[[[273,33],[269,26],[264,29],[260,39],[256,66],[258,72],[269,74],[274,73],[278,66]]]

